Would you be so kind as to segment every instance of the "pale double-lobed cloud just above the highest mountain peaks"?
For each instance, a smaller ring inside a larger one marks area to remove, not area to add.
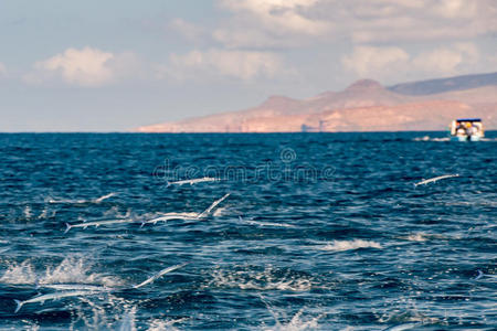
[[[400,47],[357,46],[342,57],[342,65],[358,77],[390,81],[408,72],[420,76],[467,74],[477,67],[479,58],[473,43],[454,43],[415,56]]]

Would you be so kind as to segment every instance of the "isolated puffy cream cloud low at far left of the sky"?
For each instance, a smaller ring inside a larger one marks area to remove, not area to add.
[[[97,49],[67,49],[34,64],[24,76],[30,84],[62,81],[65,84],[98,87],[112,84],[137,71],[138,60],[131,53],[113,54]]]

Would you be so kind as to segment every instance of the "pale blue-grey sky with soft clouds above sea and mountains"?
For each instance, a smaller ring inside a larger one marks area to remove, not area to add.
[[[0,0],[0,131],[129,131],[497,72],[496,0]]]

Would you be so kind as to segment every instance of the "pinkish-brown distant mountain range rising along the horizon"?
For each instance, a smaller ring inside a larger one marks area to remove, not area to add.
[[[140,132],[336,132],[444,130],[458,117],[497,129],[497,73],[383,87],[371,79],[307,99],[271,96],[239,111],[144,126]]]

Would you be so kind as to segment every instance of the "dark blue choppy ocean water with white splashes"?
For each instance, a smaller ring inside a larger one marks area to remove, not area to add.
[[[0,135],[0,329],[495,330],[487,136]]]

